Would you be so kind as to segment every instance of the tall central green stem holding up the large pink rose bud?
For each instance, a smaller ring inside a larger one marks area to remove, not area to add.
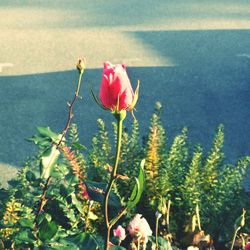
[[[121,113],[118,113],[115,115],[115,117],[117,119],[117,145],[116,145],[115,165],[112,169],[109,184],[108,184],[107,190],[106,190],[105,195],[104,195],[104,219],[105,219],[105,224],[106,224],[105,249],[106,250],[109,249],[110,230],[113,226],[113,223],[111,224],[109,222],[108,201],[109,201],[109,195],[110,195],[111,189],[112,189],[113,184],[114,184],[115,179],[116,179],[116,172],[117,172],[118,162],[119,162],[119,157],[120,157],[120,152],[121,152],[122,124],[123,124],[123,120],[125,118],[125,116],[123,116],[124,113],[122,114],[122,112],[123,111],[121,111]],[[126,112],[126,111],[124,111],[124,112]]]

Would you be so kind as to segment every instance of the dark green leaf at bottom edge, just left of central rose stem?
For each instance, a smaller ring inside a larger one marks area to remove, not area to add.
[[[66,238],[68,241],[75,243],[79,246],[80,250],[96,250],[99,246],[95,238],[88,233],[80,233]]]

